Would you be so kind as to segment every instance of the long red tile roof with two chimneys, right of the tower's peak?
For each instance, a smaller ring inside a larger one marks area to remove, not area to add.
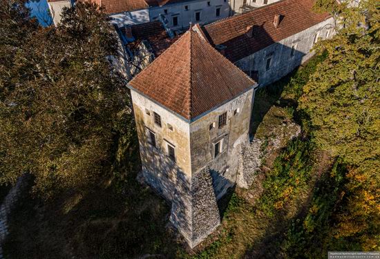
[[[330,17],[314,13],[313,4],[313,0],[279,1],[211,23],[204,27],[205,34],[213,44],[227,46],[225,57],[236,62]],[[274,15],[282,16],[277,28],[273,23]],[[254,37],[245,34],[248,26],[254,26]]]

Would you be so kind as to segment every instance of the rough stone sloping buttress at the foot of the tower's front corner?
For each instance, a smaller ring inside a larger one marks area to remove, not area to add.
[[[170,220],[191,248],[196,247],[220,224],[220,215],[208,168],[183,175],[173,197]]]

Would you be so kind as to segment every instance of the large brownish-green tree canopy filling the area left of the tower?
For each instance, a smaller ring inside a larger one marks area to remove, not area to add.
[[[117,36],[95,4],[66,8],[57,28],[36,26],[23,4],[1,5],[0,182],[29,172],[44,195],[95,184],[111,172],[129,116],[125,81],[107,59]]]

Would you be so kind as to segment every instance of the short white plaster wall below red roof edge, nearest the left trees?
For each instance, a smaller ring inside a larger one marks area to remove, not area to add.
[[[149,22],[149,10],[135,10],[133,12],[120,12],[110,15],[112,18],[111,23],[116,24],[119,27],[131,26],[133,24],[147,23]]]

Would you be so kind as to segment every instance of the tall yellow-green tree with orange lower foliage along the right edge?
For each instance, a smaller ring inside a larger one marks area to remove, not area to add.
[[[327,58],[303,88],[299,108],[314,126],[314,140],[348,165],[345,206],[336,238],[379,244],[380,226],[380,11],[376,0],[340,13],[341,29],[316,50]]]

